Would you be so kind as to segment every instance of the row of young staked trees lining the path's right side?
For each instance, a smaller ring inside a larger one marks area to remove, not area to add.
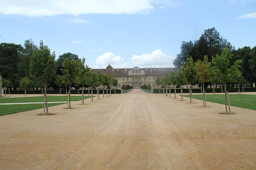
[[[192,103],[192,85],[197,81],[203,86],[203,106],[206,107],[206,98],[204,91],[204,84],[206,82],[211,82],[212,84],[224,84],[225,91],[225,107],[227,114],[227,92],[226,83],[227,82],[239,82],[242,72],[239,68],[239,64],[242,60],[237,60],[234,64],[230,64],[230,59],[232,59],[232,53],[228,47],[224,48],[221,55],[212,56],[212,62],[208,61],[208,57],[204,56],[203,60],[198,59],[194,62],[192,57],[186,60],[185,66],[181,66],[177,71],[172,70],[170,73],[166,73],[164,77],[158,77],[156,79],[156,84],[170,86],[180,85],[181,88],[181,100],[183,100],[182,95],[182,85],[190,85],[190,103]],[[211,66],[212,65],[212,66]],[[174,94],[176,98],[176,88],[174,89]]]

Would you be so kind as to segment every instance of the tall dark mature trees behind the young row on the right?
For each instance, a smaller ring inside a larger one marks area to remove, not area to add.
[[[178,69],[180,67],[186,67],[187,59],[192,57],[193,62],[204,60],[204,56],[208,56],[208,61],[213,66],[212,59],[217,55],[221,55],[224,48],[227,48],[232,56],[229,59],[229,65],[234,65],[238,60],[242,60],[240,64],[240,72],[242,72],[241,78],[246,84],[252,84],[256,82],[256,46],[242,47],[235,49],[227,39],[220,36],[220,33],[213,27],[211,29],[204,30],[204,33],[198,40],[182,41],[180,46],[180,53],[173,61],[173,65]],[[228,86],[231,82],[227,82]]]

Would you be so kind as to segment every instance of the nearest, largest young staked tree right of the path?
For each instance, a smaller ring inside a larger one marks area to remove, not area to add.
[[[237,60],[234,62],[234,65],[230,66],[229,60],[231,58],[232,53],[228,49],[228,47],[223,49],[221,55],[216,55],[216,57],[212,57],[212,64],[214,64],[214,66],[212,66],[211,80],[217,80],[220,83],[224,83],[226,114],[228,113],[226,83],[236,82],[238,78],[242,75],[239,70],[239,68],[241,67],[239,64],[242,63],[242,60]]]

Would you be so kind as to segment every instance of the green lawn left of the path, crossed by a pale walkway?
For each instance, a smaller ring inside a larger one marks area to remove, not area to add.
[[[84,99],[88,99],[91,96],[84,96]],[[82,100],[81,96],[70,96],[71,101]],[[0,98],[0,103],[28,103],[28,102],[44,102],[44,96],[38,97],[22,97],[22,98]],[[47,96],[47,102],[67,102],[68,96]],[[64,103],[49,103],[48,107],[56,106]],[[34,109],[41,109],[44,104],[12,104],[12,105],[0,105],[0,116],[13,113],[19,113],[22,111],[29,111]]]

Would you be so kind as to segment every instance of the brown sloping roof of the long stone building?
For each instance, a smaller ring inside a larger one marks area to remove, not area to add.
[[[148,70],[147,70],[148,69]],[[111,69],[92,69],[93,72],[100,71],[104,74],[109,74],[113,77],[120,77],[120,76],[130,76],[128,75],[129,70],[144,70],[145,74],[141,74],[140,76],[164,76],[165,73],[169,73],[174,68],[111,68]],[[139,76],[139,75],[132,75],[132,76]]]

